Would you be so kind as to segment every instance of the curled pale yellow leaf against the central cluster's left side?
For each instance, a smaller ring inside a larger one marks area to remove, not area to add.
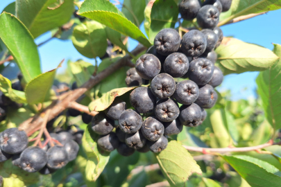
[[[101,98],[94,100],[89,105],[90,111],[103,111],[107,109],[114,101],[117,96],[122,96],[126,92],[135,89],[136,87],[126,87],[126,88],[117,88],[108,91],[106,94],[103,94]]]

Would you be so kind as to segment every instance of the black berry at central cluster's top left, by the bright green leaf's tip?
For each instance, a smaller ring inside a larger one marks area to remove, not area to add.
[[[180,47],[180,35],[173,28],[164,28],[154,39],[154,46],[160,55],[170,55],[178,51]]]

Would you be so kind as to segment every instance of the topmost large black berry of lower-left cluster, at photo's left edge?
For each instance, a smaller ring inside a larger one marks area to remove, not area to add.
[[[28,137],[24,130],[10,128],[0,133],[0,148],[8,154],[17,154],[27,148]]]

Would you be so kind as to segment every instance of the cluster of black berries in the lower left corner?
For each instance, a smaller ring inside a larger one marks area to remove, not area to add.
[[[50,174],[76,159],[79,145],[70,132],[51,133],[52,139],[60,143],[51,145],[41,142],[39,146],[28,147],[28,136],[24,130],[10,128],[0,133],[0,162],[12,158],[12,164],[27,172]]]

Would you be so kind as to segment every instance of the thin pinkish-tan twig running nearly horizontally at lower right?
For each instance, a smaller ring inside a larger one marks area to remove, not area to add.
[[[225,153],[225,152],[255,151],[255,150],[269,147],[271,145],[275,145],[275,143],[273,143],[273,140],[269,141],[268,143],[264,143],[262,145],[246,147],[246,148],[196,148],[196,147],[191,147],[191,146],[187,146],[187,145],[182,145],[182,146],[189,151],[202,152],[203,154],[212,154],[212,153],[216,154],[216,153]],[[280,143],[277,143],[277,145],[280,145]]]

